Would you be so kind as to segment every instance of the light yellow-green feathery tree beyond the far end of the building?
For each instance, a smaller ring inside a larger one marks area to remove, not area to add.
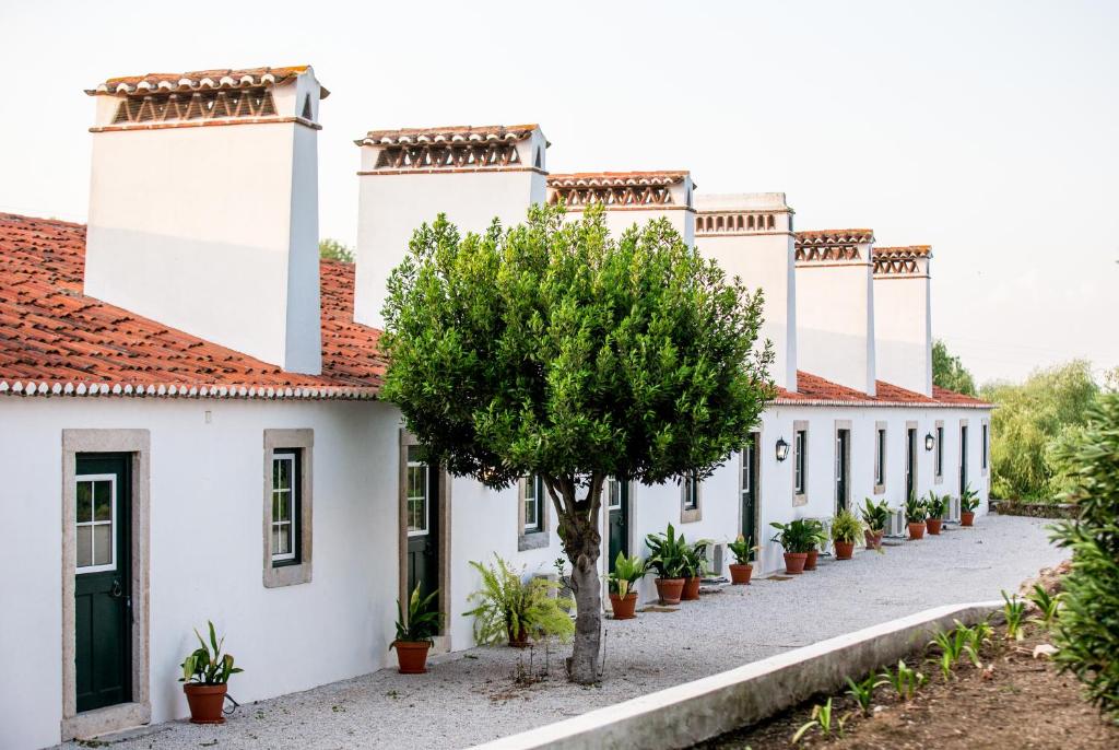
[[[1054,442],[1070,442],[1100,388],[1088,362],[1035,371],[1025,383],[985,385],[991,413],[991,493],[1008,499],[1052,499],[1062,486]],[[1065,434],[1068,432],[1068,434]]]

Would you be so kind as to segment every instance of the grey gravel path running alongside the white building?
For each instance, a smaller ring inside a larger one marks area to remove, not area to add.
[[[424,676],[395,671],[243,706],[225,726],[169,722],[138,730],[121,750],[228,748],[463,748],[696,679],[929,607],[997,599],[1064,555],[1036,518],[990,516],[975,529],[861,552],[850,562],[749,587],[725,587],[673,611],[606,621],[605,677],[577,687],[562,676],[515,681],[528,654],[476,648],[432,660]],[[543,649],[535,668],[543,668]],[[77,748],[75,744],[67,748]]]

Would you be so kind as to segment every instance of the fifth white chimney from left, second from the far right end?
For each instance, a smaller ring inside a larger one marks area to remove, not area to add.
[[[797,233],[800,369],[874,395],[871,229]]]

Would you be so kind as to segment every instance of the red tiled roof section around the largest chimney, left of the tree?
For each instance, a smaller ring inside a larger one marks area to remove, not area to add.
[[[84,262],[84,225],[0,214],[0,392],[372,397],[380,386],[380,331],[352,321],[352,265],[320,264],[322,374],[302,375],[86,297]]]

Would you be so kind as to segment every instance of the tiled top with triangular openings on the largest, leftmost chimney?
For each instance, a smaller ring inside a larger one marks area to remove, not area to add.
[[[288,85],[304,76],[318,90],[313,97],[309,85]],[[282,96],[275,91],[281,86],[285,90]],[[297,96],[297,88],[302,96]],[[318,129],[318,102],[330,95],[314,81],[310,65],[121,76],[85,93],[110,100],[98,104],[92,132],[275,121],[299,121]]]

